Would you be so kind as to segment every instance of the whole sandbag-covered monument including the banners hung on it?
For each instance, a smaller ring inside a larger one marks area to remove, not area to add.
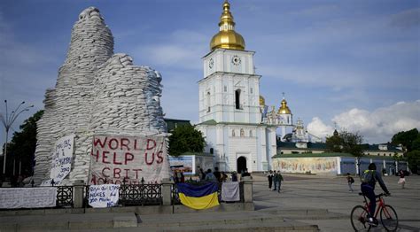
[[[38,121],[36,185],[160,182],[169,177],[161,75],[113,54],[113,35],[95,7],[71,33],[55,88]]]

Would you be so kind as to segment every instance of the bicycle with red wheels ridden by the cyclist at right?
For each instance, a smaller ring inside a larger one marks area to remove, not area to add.
[[[350,220],[352,221],[352,226],[354,231],[369,231],[371,226],[368,223],[368,215],[369,215],[369,204],[366,196],[364,196],[361,192],[359,195],[363,196],[364,198],[364,205],[356,205],[354,206],[352,213],[350,215]],[[377,214],[380,211],[380,219],[381,224],[384,226],[386,231],[396,231],[398,228],[398,215],[393,209],[391,205],[385,205],[385,200],[383,196],[387,196],[384,193],[376,195],[377,201],[379,204],[377,205],[377,212],[375,213],[375,218],[377,218]]]

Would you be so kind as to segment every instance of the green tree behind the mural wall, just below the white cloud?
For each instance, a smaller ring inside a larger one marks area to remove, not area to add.
[[[363,136],[359,133],[350,133],[346,130],[326,138],[328,151],[350,153],[355,157],[363,155]]]

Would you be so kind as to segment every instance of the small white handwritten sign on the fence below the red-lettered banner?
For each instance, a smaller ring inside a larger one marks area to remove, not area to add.
[[[119,184],[90,185],[89,205],[94,208],[113,207],[118,204],[119,190]]]

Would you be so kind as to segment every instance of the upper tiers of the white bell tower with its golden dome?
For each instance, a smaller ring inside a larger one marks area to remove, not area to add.
[[[253,54],[235,31],[230,4],[224,2],[219,32],[203,58],[204,76],[199,85],[199,122],[258,123],[260,77],[255,74]]]

